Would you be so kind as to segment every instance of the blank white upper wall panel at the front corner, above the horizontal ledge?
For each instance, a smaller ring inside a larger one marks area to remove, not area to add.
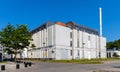
[[[55,45],[70,46],[70,29],[64,26],[55,25]]]

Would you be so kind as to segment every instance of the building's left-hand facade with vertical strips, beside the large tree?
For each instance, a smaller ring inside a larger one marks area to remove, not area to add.
[[[33,34],[32,43],[36,48],[28,51],[28,58],[55,58],[52,53],[55,45],[54,27],[52,25]]]

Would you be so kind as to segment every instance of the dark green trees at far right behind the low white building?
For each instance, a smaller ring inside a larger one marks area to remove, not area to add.
[[[113,49],[113,48],[120,49],[120,39],[107,42],[107,49]]]

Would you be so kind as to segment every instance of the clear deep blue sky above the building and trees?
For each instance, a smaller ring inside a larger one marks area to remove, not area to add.
[[[0,29],[8,22],[34,29],[46,21],[73,21],[99,31],[103,10],[103,36],[120,38],[120,0],[0,0]]]

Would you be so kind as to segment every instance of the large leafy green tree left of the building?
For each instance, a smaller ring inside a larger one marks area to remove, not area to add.
[[[4,51],[8,54],[16,55],[24,48],[30,47],[32,35],[26,25],[13,25],[8,24],[0,31],[0,43],[4,47]],[[34,44],[31,44],[34,46]]]

